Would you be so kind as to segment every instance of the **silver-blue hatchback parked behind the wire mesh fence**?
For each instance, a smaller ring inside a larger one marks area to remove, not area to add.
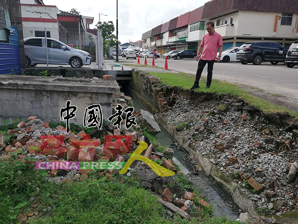
[[[45,37],[25,38],[24,48],[26,67],[47,63]],[[47,38],[47,50],[49,64],[71,65],[73,68],[91,64],[92,58],[88,52],[72,48],[53,38]]]

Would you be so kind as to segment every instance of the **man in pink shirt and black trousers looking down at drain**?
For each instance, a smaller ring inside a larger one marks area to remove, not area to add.
[[[206,89],[210,88],[210,85],[212,82],[213,65],[214,65],[219,47],[220,47],[220,54],[217,58],[217,62],[221,61],[221,55],[223,52],[223,38],[221,34],[215,32],[214,22],[207,22],[206,26],[207,26],[206,30],[208,31],[208,34],[205,34],[201,42],[201,45],[198,49],[198,54],[196,57],[197,61],[199,60],[200,53],[202,51],[202,48],[204,47],[203,53],[201,55],[201,59],[199,60],[199,63],[198,63],[196,81],[195,81],[195,84],[190,88],[191,90],[200,88],[199,81],[206,64],[208,64]]]

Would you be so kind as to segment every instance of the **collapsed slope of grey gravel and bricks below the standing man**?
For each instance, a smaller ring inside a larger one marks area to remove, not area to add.
[[[184,142],[238,183],[257,207],[282,214],[298,209],[298,130],[240,110],[232,99],[197,104],[174,96],[162,118]]]

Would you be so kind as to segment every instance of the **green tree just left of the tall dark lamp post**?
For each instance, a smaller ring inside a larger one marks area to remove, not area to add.
[[[112,34],[115,31],[114,23],[113,21],[98,22],[96,27],[102,30],[103,52],[108,56],[109,48],[116,45],[116,36]]]

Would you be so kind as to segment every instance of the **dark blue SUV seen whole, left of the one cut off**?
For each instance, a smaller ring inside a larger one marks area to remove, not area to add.
[[[241,64],[246,65],[252,62],[254,65],[260,65],[263,61],[270,61],[276,65],[284,62],[287,50],[274,41],[256,41],[244,43],[238,48],[236,59]]]

